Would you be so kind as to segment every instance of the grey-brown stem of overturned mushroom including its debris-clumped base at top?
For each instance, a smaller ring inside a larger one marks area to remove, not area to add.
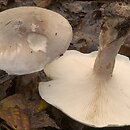
[[[93,70],[96,75],[110,79],[116,55],[129,33],[130,7],[114,2],[105,8],[104,15],[108,17],[102,24],[99,51]]]

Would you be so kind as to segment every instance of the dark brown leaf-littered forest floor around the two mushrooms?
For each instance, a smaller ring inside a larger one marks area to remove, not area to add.
[[[38,6],[60,13],[72,25],[74,36],[69,49],[90,53],[98,49],[101,8],[112,0],[0,0],[0,11],[19,6]],[[120,2],[120,1],[119,1]],[[129,2],[125,1],[128,5]],[[130,35],[120,53],[130,57]],[[78,123],[47,104],[38,94],[44,72],[9,76],[0,71],[0,130],[94,130]],[[101,128],[130,130],[130,127]]]

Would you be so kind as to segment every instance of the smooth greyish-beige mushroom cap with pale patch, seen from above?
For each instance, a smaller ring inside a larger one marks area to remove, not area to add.
[[[64,53],[72,28],[60,14],[38,7],[0,13],[0,69],[9,74],[39,71]]]

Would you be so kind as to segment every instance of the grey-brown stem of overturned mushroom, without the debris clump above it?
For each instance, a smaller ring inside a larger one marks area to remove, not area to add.
[[[98,56],[94,64],[96,75],[106,79],[112,77],[116,55],[128,34],[130,26],[128,23],[129,19],[117,17],[108,18],[103,23],[99,37]]]

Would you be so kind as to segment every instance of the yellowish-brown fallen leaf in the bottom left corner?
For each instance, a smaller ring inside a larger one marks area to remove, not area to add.
[[[17,130],[30,130],[30,121],[25,113],[26,104],[20,94],[9,96],[0,102],[0,118]]]

